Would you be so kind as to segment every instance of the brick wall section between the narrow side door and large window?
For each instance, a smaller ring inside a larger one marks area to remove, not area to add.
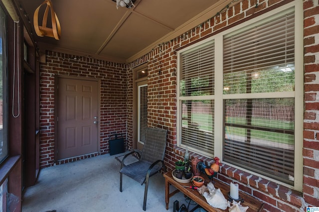
[[[176,147],[176,60],[172,45],[165,44],[150,53],[148,70],[149,126],[168,130],[167,165],[176,159],[172,153]]]

